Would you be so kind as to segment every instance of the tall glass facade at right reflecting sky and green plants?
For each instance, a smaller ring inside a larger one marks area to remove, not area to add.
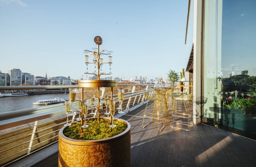
[[[202,122],[256,139],[256,1],[205,0]]]

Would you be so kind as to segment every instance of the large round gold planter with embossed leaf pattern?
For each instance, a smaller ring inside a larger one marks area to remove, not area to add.
[[[117,120],[127,124],[127,129],[119,135],[100,140],[70,139],[63,135],[66,127],[62,127],[59,131],[59,167],[130,167],[131,125],[125,120]]]

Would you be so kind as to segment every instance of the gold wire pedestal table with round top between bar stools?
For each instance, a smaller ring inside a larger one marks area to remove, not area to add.
[[[162,119],[160,120],[161,123],[169,123],[170,117],[169,117],[169,110],[167,106],[167,100],[166,100],[166,92],[170,89],[173,89],[174,87],[151,87],[156,91],[156,94],[159,94],[162,96],[161,99],[161,105],[158,105],[157,103],[154,104],[154,110],[153,110],[153,116],[163,115]],[[160,113],[157,113],[157,111],[160,108]],[[157,122],[157,118],[152,118],[152,121]]]

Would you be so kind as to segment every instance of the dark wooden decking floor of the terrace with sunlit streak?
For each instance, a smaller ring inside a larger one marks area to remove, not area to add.
[[[256,166],[256,141],[204,124],[190,131],[170,123],[161,132],[157,123],[142,128],[145,107],[121,117],[131,124],[131,166]],[[58,166],[57,158],[55,154],[33,166]]]

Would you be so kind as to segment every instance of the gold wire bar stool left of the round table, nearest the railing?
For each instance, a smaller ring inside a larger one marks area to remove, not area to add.
[[[161,124],[160,120],[164,119],[163,115],[160,114],[161,113],[160,111],[162,110],[162,105],[161,105],[162,96],[154,92],[154,93],[145,93],[144,98],[147,100],[147,105],[146,105],[145,113],[143,116],[142,128],[146,127],[150,123],[150,119],[151,121],[152,119],[154,119],[156,120],[154,122],[158,123],[158,131],[161,132],[161,130],[165,127],[164,121],[161,129],[159,125]],[[146,125],[144,125],[145,118],[148,118],[148,122]]]

